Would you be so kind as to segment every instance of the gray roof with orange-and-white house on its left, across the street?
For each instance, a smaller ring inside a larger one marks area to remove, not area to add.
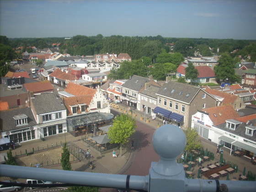
[[[139,91],[145,86],[145,83],[150,81],[147,77],[141,77],[138,75],[133,75],[130,80],[127,80],[122,87],[128,88],[130,90]]]

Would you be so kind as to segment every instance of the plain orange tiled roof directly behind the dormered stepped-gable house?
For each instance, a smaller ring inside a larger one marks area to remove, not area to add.
[[[71,83],[71,82],[69,82],[65,91],[75,96],[91,95],[93,97],[96,93],[95,89],[78,85],[75,83]]]

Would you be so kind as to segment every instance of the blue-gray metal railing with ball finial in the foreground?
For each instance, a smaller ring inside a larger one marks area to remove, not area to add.
[[[152,143],[156,153],[160,155],[160,161],[152,162],[148,176],[38,169],[14,165],[0,165],[0,176],[148,192],[255,192],[256,181],[187,179],[182,164],[176,163],[177,156],[185,148],[186,137],[175,125],[167,124],[157,129]]]

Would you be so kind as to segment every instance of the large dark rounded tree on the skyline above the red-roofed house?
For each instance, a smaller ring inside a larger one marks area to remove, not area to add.
[[[196,44],[192,39],[183,38],[175,43],[175,52],[181,53],[184,57],[192,56],[195,52]]]

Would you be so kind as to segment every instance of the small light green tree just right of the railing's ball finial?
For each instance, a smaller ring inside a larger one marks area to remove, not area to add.
[[[192,149],[200,149],[202,147],[201,141],[197,131],[193,128],[185,128],[183,132],[186,136],[187,143],[185,150],[191,151]]]

